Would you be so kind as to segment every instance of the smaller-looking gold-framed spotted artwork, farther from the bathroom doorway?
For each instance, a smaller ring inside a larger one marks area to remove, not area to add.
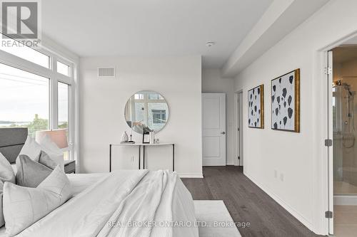
[[[248,90],[248,127],[264,128],[264,85]]]

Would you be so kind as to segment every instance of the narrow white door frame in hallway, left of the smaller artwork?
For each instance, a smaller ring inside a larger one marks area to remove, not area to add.
[[[239,94],[242,94],[241,100],[239,100]],[[241,114],[239,114],[238,106],[240,106],[241,108]],[[239,149],[237,146],[238,142],[240,143]],[[238,90],[234,93],[234,151],[233,152],[234,152],[233,164],[235,166],[243,166],[243,89]]]

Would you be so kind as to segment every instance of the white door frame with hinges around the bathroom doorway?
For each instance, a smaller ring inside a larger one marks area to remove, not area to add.
[[[331,66],[329,63],[331,63],[332,59],[329,58],[331,55],[329,56],[328,51],[356,36],[357,31],[333,41],[333,43],[318,49],[315,53],[316,65],[314,65],[314,68],[316,70],[314,74],[317,80],[313,81],[312,86],[313,91],[318,97],[314,102],[316,108],[315,116],[321,119],[321,124],[316,126],[314,138],[318,146],[314,153],[318,157],[321,157],[321,160],[314,164],[314,170],[316,174],[319,174],[318,179],[314,181],[316,188],[316,191],[314,191],[314,203],[321,210],[321,213],[313,216],[313,218],[326,234],[333,234],[333,218],[326,218],[325,216],[325,211],[333,211],[333,147],[326,147],[325,145],[325,139],[332,139],[333,130],[332,76],[329,77],[326,73],[326,69]],[[321,198],[320,203],[318,201],[319,198]]]

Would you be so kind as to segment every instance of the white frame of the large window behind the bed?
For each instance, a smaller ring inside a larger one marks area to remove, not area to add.
[[[34,49],[40,53],[44,53],[49,56],[49,68],[33,63],[29,60],[15,56],[14,54],[0,50],[0,63],[4,63],[20,70],[25,70],[29,73],[40,75],[44,78],[49,78],[49,130],[58,129],[58,83],[66,83],[69,85],[69,147],[63,149],[70,152],[70,159],[76,159],[74,157],[74,105],[75,105],[75,90],[74,90],[74,76],[78,65],[69,59],[61,57],[56,53],[47,51],[44,48]],[[57,73],[57,61],[69,65],[70,76]]]

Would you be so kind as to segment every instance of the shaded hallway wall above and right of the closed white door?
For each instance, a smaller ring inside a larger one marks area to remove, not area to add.
[[[226,164],[233,165],[234,159],[234,80],[221,78],[221,70],[202,70],[202,93],[226,93]]]

